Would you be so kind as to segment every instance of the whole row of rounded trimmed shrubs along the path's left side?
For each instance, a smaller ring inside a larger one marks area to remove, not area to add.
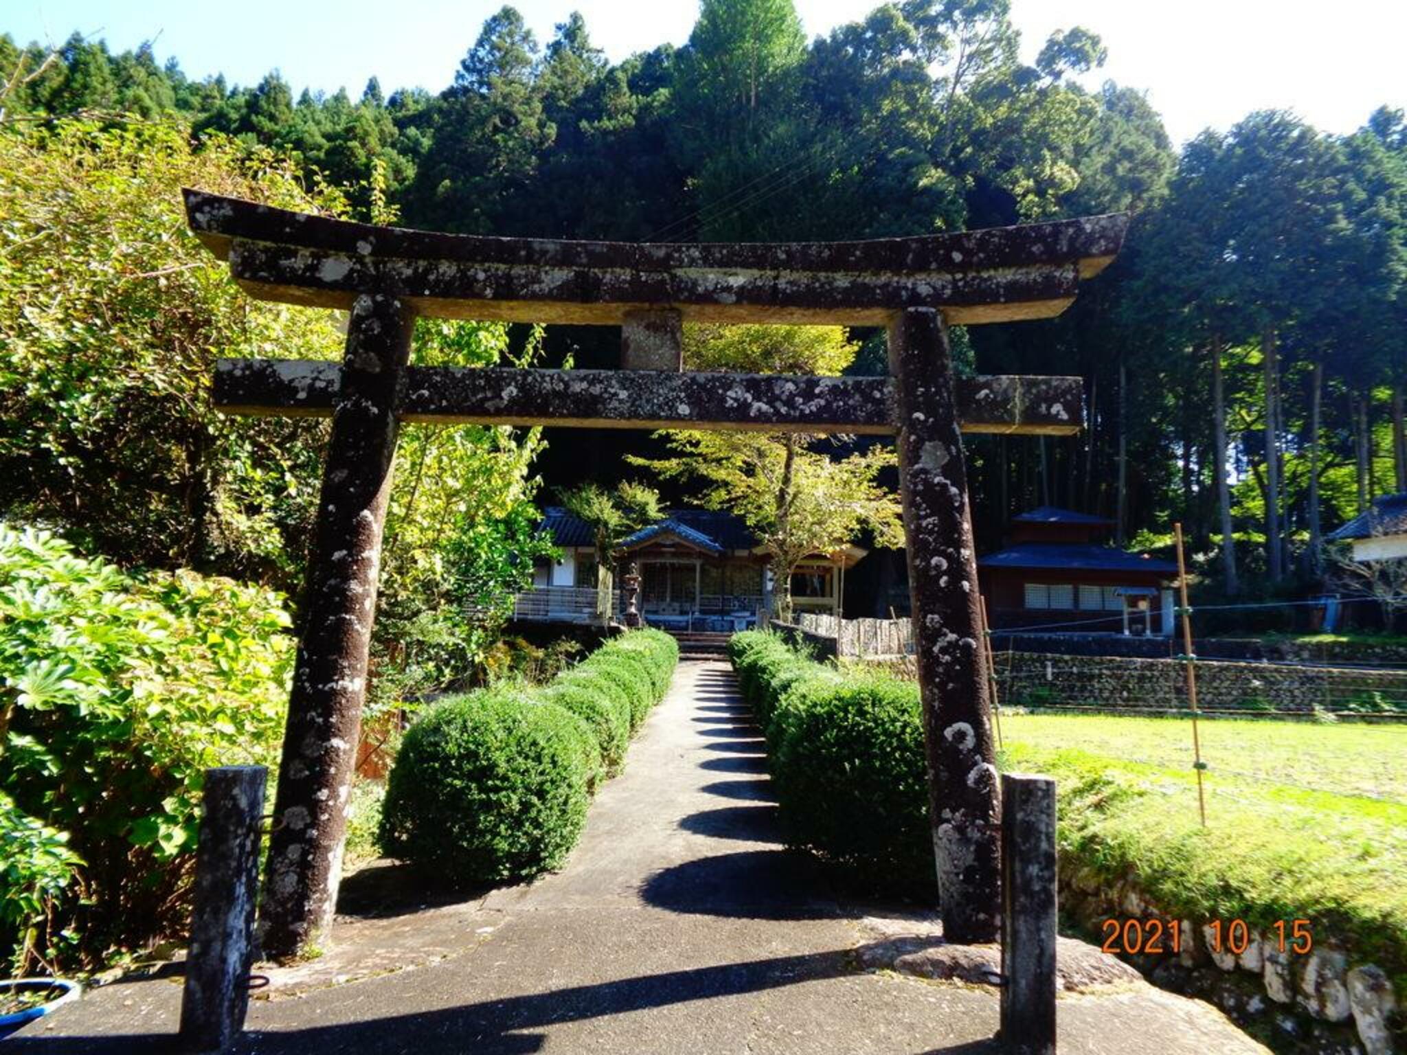
[[[632,630],[543,688],[435,706],[405,734],[377,844],[452,886],[530,879],[575,845],[599,781],[664,698],[678,646]]]

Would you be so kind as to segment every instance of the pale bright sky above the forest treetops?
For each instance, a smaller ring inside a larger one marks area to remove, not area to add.
[[[0,32],[62,41],[73,30],[122,51],[156,39],[187,73],[255,83],[280,69],[303,87],[359,93],[376,75],[390,91],[439,90],[502,0],[0,0]],[[806,31],[854,21],[875,0],[796,0]],[[580,10],[612,59],[682,44],[696,0],[521,0],[540,39]],[[1110,60],[1088,77],[1148,91],[1175,141],[1227,128],[1251,110],[1294,110],[1348,132],[1380,104],[1407,108],[1407,0],[1012,0],[1027,58],[1057,27],[1085,25]]]

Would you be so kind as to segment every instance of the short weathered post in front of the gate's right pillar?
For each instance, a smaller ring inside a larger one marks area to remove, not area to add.
[[[1055,781],[1002,775],[1002,1027],[1016,1055],[1055,1052]]]

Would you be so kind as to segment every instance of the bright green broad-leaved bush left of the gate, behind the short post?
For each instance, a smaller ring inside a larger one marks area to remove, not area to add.
[[[267,591],[0,523],[0,789],[83,861],[52,933],[87,959],[184,924],[204,771],[277,761],[287,626]]]

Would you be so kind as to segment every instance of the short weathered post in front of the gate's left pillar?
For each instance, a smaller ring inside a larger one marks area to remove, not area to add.
[[[180,1049],[225,1051],[245,1027],[259,888],[262,765],[205,771]]]

